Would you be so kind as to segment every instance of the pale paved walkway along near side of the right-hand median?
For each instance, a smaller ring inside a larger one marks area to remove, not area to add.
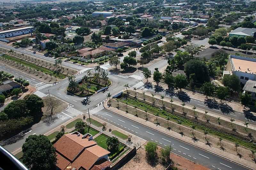
[[[112,111],[112,112],[114,112],[116,114],[119,114],[119,115],[121,115],[123,117],[126,117],[128,119],[136,121],[136,122],[138,122],[140,124],[143,124],[145,126],[148,126],[149,128],[152,128],[152,129],[155,129],[157,131],[160,131],[160,132],[162,132],[162,133],[164,133],[166,135],[172,136],[173,138],[177,138],[177,139],[179,139],[181,141],[184,141],[184,142],[186,142],[186,143],[188,143],[190,145],[194,145],[194,146],[196,146],[198,148],[201,148],[203,150],[206,150],[208,152],[212,152],[212,153],[220,155],[220,156],[222,156],[224,158],[228,158],[228,159],[230,159],[230,160],[232,160],[234,162],[237,162],[237,163],[239,163],[241,165],[248,166],[248,167],[250,167],[252,169],[255,168],[255,164],[254,163],[252,163],[252,162],[250,162],[250,161],[248,161],[246,159],[243,159],[243,158],[240,159],[237,155],[233,155],[231,153],[228,153],[228,152],[223,151],[223,150],[221,150],[219,148],[216,148],[216,147],[205,145],[205,143],[201,142],[201,141],[192,143],[191,142],[192,139],[190,137],[188,137],[188,136],[181,137],[181,135],[179,133],[175,132],[175,131],[169,131],[167,128],[164,128],[162,126],[156,126],[156,124],[154,124],[152,122],[146,121],[146,120],[144,120],[142,118],[139,118],[139,117],[135,117],[132,114],[128,114],[128,113],[126,113],[126,112],[124,112],[122,110],[118,110],[117,108],[108,107],[107,103],[108,103],[108,100],[106,100],[104,102],[104,107],[107,110],[109,110],[109,111]],[[181,125],[181,127],[185,127],[185,126]],[[194,130],[194,131],[196,131],[196,130]]]

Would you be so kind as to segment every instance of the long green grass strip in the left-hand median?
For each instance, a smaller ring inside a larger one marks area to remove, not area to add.
[[[15,57],[12,57],[10,55],[2,55],[2,57],[4,57],[5,59],[8,59],[8,60],[11,60],[11,61],[15,61],[19,64],[22,64],[23,66],[27,66],[27,67],[30,67],[32,69],[35,69],[35,70],[39,70],[39,71],[42,71],[44,74],[48,74],[48,75],[51,75],[52,76],[57,76],[57,78],[60,78],[60,79],[64,79],[66,77],[65,74],[62,74],[62,73],[59,73],[59,72],[55,72],[55,71],[52,71],[50,69],[47,69],[45,67],[40,67],[40,66],[37,66],[36,64],[34,63],[31,63],[31,62],[28,62],[28,61],[25,61],[25,60],[21,60],[19,58],[15,58]]]

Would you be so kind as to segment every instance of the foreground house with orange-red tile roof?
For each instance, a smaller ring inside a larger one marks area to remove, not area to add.
[[[92,140],[92,135],[75,131],[64,134],[54,145],[57,169],[60,170],[108,170],[110,153]]]

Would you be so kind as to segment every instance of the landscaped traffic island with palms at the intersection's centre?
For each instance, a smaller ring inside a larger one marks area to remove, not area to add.
[[[79,97],[86,97],[111,85],[111,81],[108,79],[108,74],[105,70],[97,66],[95,67],[95,72],[92,74],[89,70],[87,75],[84,75],[79,81],[75,81],[75,76],[70,76],[68,78],[69,85],[67,92]]]

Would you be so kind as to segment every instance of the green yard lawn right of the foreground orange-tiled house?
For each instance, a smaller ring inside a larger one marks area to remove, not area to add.
[[[101,146],[102,148],[108,150],[108,145],[107,145],[107,138],[109,138],[107,135],[104,135],[104,134],[101,134],[99,135],[98,137],[94,138],[93,140],[95,142],[97,142],[97,144],[99,146]],[[122,152],[122,150],[124,149],[124,146],[125,145],[122,145],[120,142],[119,142],[119,145],[118,145],[118,149],[116,152],[111,152],[110,154],[108,154],[108,157],[114,157],[114,155],[117,155],[118,153]]]

